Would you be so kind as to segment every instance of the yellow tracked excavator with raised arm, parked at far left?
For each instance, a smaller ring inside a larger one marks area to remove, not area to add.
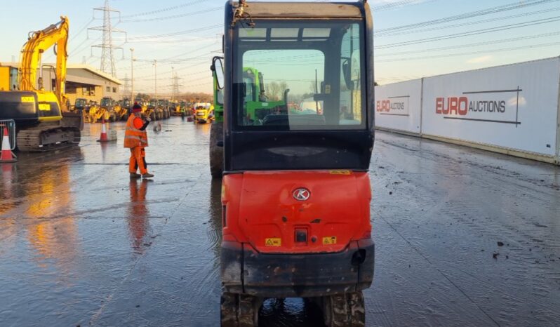
[[[79,110],[70,112],[65,95],[68,29],[68,18],[60,17],[60,22],[30,32],[22,48],[18,90],[0,91],[0,120],[15,121],[20,151],[47,151],[80,141],[84,120]],[[41,56],[52,46],[56,54],[55,89],[45,91]]]

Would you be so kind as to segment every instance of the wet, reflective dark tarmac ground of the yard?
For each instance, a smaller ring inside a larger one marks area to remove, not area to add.
[[[220,182],[209,125],[149,130],[152,181],[119,141],[1,166],[0,326],[219,326]],[[560,168],[376,135],[367,326],[559,326]],[[260,326],[322,326],[300,299]]]

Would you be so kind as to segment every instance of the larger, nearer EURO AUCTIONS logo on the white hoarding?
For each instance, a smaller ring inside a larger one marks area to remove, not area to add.
[[[524,101],[522,92],[519,86],[509,90],[469,90],[456,96],[435,98],[434,109],[444,119],[518,126],[521,124],[519,104]]]

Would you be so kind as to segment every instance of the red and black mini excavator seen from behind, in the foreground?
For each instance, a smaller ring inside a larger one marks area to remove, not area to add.
[[[224,59],[212,65],[224,90],[221,326],[258,326],[267,298],[314,302],[326,326],[365,326],[370,8],[240,1],[225,18]],[[309,99],[314,108],[288,109]]]

